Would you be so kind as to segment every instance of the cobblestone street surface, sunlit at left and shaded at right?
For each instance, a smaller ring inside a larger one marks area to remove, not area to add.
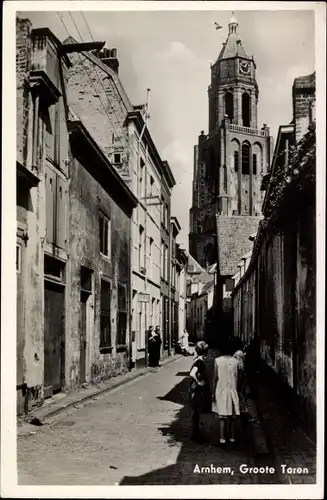
[[[251,446],[212,445],[218,426],[203,416],[206,443],[190,440],[187,406],[192,358],[182,358],[128,382],[18,439],[19,484],[235,484],[254,465]],[[196,466],[231,467],[234,474],[194,473]]]

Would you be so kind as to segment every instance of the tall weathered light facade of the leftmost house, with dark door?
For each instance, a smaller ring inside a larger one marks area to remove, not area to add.
[[[17,19],[17,403],[27,412],[67,382],[70,62],[48,29]],[[52,294],[56,288],[56,297]]]

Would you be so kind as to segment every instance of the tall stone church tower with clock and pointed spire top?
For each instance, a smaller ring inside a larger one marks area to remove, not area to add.
[[[225,260],[229,255],[233,262],[229,259],[227,274],[233,275],[238,254],[241,258],[249,251],[248,241],[242,243],[237,234],[245,234],[250,226],[255,232],[263,201],[261,181],[273,150],[267,125],[258,128],[256,64],[242,44],[234,14],[218,59],[211,65],[208,99],[209,133],[202,131],[194,148],[189,246],[204,267],[217,262],[217,250],[218,261],[220,255]],[[224,248],[222,235],[217,242],[219,217],[225,227],[235,229],[233,251]]]

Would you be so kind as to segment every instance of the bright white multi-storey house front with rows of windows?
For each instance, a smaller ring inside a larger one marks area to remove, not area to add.
[[[128,123],[132,189],[139,200],[133,217],[132,238],[133,362],[144,366],[149,326],[159,326],[163,331],[161,279],[163,273],[168,279],[170,276],[167,274],[169,253],[162,248],[161,198],[163,184],[174,179],[168,164],[160,158],[141,112],[129,113]]]

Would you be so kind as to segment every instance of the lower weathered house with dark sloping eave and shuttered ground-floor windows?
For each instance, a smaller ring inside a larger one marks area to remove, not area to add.
[[[130,369],[137,198],[80,121],[69,121],[69,387]]]

